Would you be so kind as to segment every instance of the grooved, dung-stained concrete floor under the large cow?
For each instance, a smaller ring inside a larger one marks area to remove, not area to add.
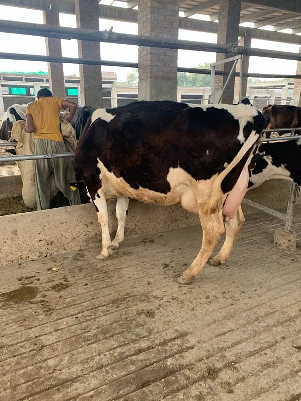
[[[249,216],[229,262],[184,287],[199,226],[0,268],[0,400],[300,400],[294,222],[284,252],[283,224]]]

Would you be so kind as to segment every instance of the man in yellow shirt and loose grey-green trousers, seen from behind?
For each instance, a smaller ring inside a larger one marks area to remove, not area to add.
[[[68,152],[60,130],[60,111],[70,108],[68,122],[71,122],[77,105],[60,97],[53,97],[49,89],[40,89],[38,100],[26,108],[26,132],[34,132],[35,154]],[[73,191],[69,182],[75,181],[70,158],[35,160],[37,210],[50,207],[51,174],[54,173],[56,187],[69,200],[70,205],[80,204],[79,192]]]

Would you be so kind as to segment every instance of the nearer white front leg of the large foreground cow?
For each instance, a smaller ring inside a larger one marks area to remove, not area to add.
[[[101,237],[102,249],[101,253],[98,256],[96,256],[96,258],[105,259],[108,256],[112,255],[113,251],[109,232],[108,208],[104,196],[104,191],[102,189],[99,189],[97,191],[94,203],[97,208],[97,217],[101,226],[101,234],[102,234]]]

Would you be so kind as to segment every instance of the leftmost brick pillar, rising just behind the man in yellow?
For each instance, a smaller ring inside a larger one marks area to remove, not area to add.
[[[52,10],[43,11],[44,24],[60,25],[59,13]],[[46,51],[48,56],[62,57],[62,46],[60,39],[45,38]],[[64,70],[62,63],[47,63],[48,64],[48,77],[49,87],[53,96],[60,96],[65,98],[65,80]],[[36,93],[37,96],[37,93]]]

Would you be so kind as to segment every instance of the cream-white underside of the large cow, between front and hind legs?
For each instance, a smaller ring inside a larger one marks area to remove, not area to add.
[[[181,202],[184,208],[197,212],[196,193],[199,190],[200,182],[193,179],[190,174],[181,168],[170,169],[167,181],[171,189],[165,194],[142,187],[134,189],[123,178],[118,178],[112,172],[109,172],[100,161],[98,162],[98,167],[101,171],[100,178],[106,199],[128,196],[141,202],[158,205],[174,205]],[[209,186],[211,187],[211,183]],[[210,191],[206,192],[208,192],[209,197]]]

